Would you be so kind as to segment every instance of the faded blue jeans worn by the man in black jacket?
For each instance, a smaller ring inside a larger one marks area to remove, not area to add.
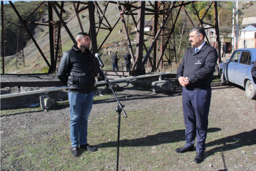
[[[88,94],[68,91],[71,114],[71,146],[87,144],[88,117],[92,109],[93,92]]]

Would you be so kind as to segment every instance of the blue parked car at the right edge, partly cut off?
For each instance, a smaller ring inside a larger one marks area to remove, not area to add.
[[[245,88],[248,98],[256,98],[256,84],[251,75],[251,68],[256,60],[256,48],[238,49],[233,52],[231,58],[220,63],[219,74],[221,83],[227,81]]]

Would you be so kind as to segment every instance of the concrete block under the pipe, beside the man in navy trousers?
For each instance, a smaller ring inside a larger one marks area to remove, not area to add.
[[[153,92],[168,92],[172,89],[172,81],[162,80],[162,81],[153,81],[151,88]]]

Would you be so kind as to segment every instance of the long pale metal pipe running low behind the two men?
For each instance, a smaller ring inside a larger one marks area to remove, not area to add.
[[[177,73],[177,71],[171,71],[171,72],[166,72],[166,73],[155,73],[155,74],[150,74],[150,75],[139,75],[139,76],[134,76],[134,77],[126,77],[126,78],[122,78],[122,79],[112,79],[112,80],[110,80],[110,83],[127,81],[127,80],[131,80],[131,79],[143,79],[146,77],[157,77],[159,75],[169,75],[169,74],[176,74],[176,73]],[[107,83],[107,81],[97,81],[95,84],[100,85],[100,84],[104,84],[104,83]],[[66,89],[67,89],[66,86],[62,86],[62,87],[57,87],[57,88],[48,88],[48,89],[44,89],[44,90],[35,90],[35,91],[30,91],[30,92],[3,94],[3,95],[0,95],[0,99],[16,97],[16,96],[25,96],[25,95],[30,95],[30,94],[39,94],[39,93],[43,93],[43,92],[53,92],[53,91],[66,90]]]

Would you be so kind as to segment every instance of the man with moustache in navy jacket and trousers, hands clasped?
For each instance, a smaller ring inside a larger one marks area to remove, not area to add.
[[[177,79],[182,89],[183,118],[185,122],[185,145],[177,148],[177,153],[194,150],[196,142],[196,157],[194,161],[201,163],[205,153],[205,139],[208,127],[209,106],[211,102],[211,83],[218,53],[214,47],[205,41],[205,31],[201,27],[190,30],[192,48],[177,69]]]

